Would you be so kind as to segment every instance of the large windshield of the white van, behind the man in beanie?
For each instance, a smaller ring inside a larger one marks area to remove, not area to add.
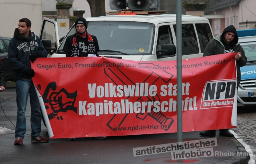
[[[120,51],[129,55],[151,55],[154,40],[154,24],[144,22],[126,21],[90,21],[88,33],[98,39],[100,52],[98,55],[124,55],[114,52]],[[76,32],[75,27],[67,36]],[[59,53],[63,53],[63,45],[60,45]],[[111,51],[102,51],[111,50]]]

